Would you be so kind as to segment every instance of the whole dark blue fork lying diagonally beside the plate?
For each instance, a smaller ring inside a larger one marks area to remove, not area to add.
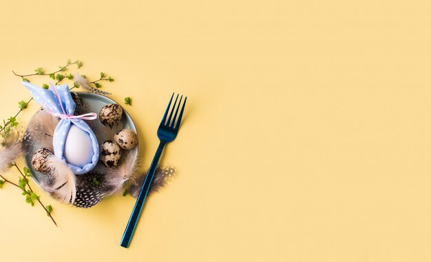
[[[143,188],[139,192],[138,199],[136,200],[135,207],[133,208],[132,214],[130,215],[129,223],[127,223],[126,230],[123,234],[123,239],[121,239],[120,245],[123,248],[128,248],[130,241],[132,240],[133,233],[135,231],[136,225],[138,224],[138,219],[141,211],[143,210],[145,199],[147,198],[148,190],[151,186],[151,181],[153,181],[154,174],[156,173],[156,168],[160,156],[162,155],[163,148],[165,145],[176,138],[178,134],[178,129],[180,128],[182,112],[184,112],[184,108],[186,105],[187,97],[184,99],[184,103],[182,103],[180,115],[177,119],[178,109],[181,105],[182,96],[180,97],[180,101],[178,102],[178,106],[176,106],[176,102],[178,101],[178,94],[176,96],[174,105],[171,108],[171,113],[169,117],[167,114],[169,112],[169,108],[171,107],[172,99],[174,98],[174,94],[172,94],[171,100],[169,100],[169,104],[167,105],[165,115],[163,116],[162,122],[158,126],[157,137],[160,140],[160,144],[158,145],[156,154],[154,155],[154,159],[151,162],[151,166],[149,167],[147,177],[145,177]],[[174,113],[174,118],[172,118],[172,114]]]

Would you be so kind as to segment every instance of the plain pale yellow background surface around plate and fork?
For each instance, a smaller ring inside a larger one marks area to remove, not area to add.
[[[0,261],[431,261],[430,8],[3,1],[1,118],[30,97],[11,70],[81,59],[92,79],[112,74],[113,99],[132,97],[148,166],[171,92],[189,100],[162,158],[178,178],[128,250],[131,197],[80,210],[39,190],[55,228],[5,185]]]

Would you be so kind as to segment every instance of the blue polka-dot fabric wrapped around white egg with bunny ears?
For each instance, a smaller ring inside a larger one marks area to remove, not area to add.
[[[32,83],[28,83],[26,81],[23,81],[23,85],[25,86],[25,88],[27,88],[30,91],[33,99],[37,103],[39,103],[39,105],[41,105],[42,108],[47,110],[47,112],[50,112],[50,114],[54,114],[54,115],[63,114],[63,111],[61,110],[61,106],[59,103],[59,99],[54,94],[54,91],[52,90],[52,88],[48,90],[39,88],[38,86],[33,85]],[[65,113],[74,114],[75,102],[73,101],[72,96],[70,95],[70,90],[68,85],[67,84],[56,85],[55,88],[59,93],[61,103],[63,105],[63,109],[65,110]],[[78,128],[85,131],[90,137],[90,140],[92,141],[92,149],[93,149],[92,157],[91,159],[88,159],[87,163],[83,166],[76,166],[76,165],[67,163],[66,159],[63,157],[65,141],[67,138],[67,134],[70,130],[70,127],[72,125],[76,125]],[[74,172],[74,174],[84,174],[92,170],[97,165],[98,155],[99,155],[98,141],[96,139],[96,136],[94,135],[93,130],[82,119],[61,119],[54,130],[54,137],[52,138],[52,144],[54,146],[55,156],[65,161],[67,166],[70,168],[70,170],[72,170],[72,172]]]

